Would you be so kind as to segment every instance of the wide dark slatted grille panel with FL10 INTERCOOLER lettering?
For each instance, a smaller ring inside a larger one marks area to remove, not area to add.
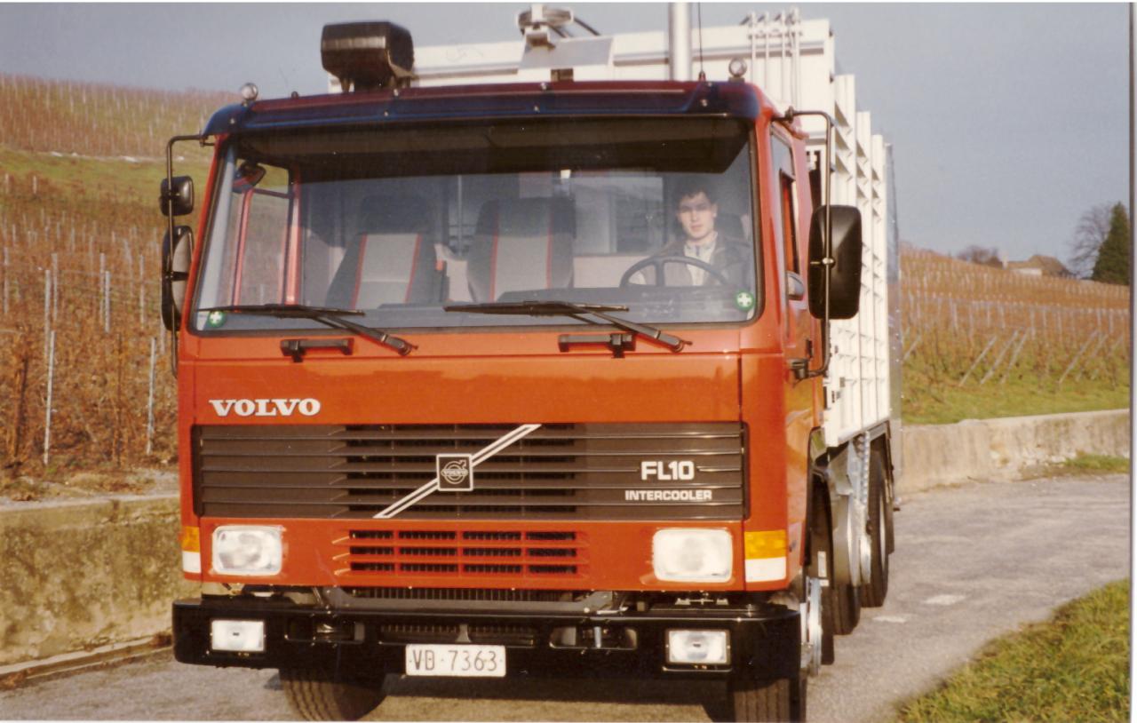
[[[516,429],[196,427],[196,510],[371,518],[434,480],[438,455],[476,455]],[[741,520],[744,446],[737,423],[546,424],[474,466],[472,491],[433,492],[398,518]]]

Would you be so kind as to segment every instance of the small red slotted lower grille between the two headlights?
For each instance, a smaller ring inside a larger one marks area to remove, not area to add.
[[[352,530],[335,547],[347,548],[352,575],[493,576],[525,579],[578,576],[584,573],[588,551],[584,535],[565,532],[384,531],[390,545],[372,545],[374,533]],[[424,542],[424,540],[429,542]],[[366,545],[360,545],[366,542]]]

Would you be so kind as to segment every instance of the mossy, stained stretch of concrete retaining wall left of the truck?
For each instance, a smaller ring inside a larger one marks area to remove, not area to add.
[[[0,509],[0,665],[168,631],[177,521],[168,496]]]

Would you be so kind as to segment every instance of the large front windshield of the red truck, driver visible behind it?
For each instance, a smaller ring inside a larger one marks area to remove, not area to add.
[[[724,118],[485,122],[247,135],[224,151],[194,308],[358,309],[383,329],[583,323],[445,305],[622,305],[745,322],[749,130]],[[198,311],[198,330],[318,327]]]

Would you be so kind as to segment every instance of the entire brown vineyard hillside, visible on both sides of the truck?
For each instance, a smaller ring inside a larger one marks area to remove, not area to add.
[[[157,189],[166,139],[233,100],[0,74],[0,498],[175,458]],[[179,153],[200,198],[208,149]],[[906,422],[1124,406],[1128,289],[902,267]]]

